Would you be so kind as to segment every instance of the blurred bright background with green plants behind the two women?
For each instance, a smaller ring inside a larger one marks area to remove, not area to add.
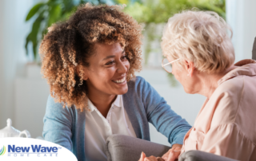
[[[172,15],[194,7],[217,12],[233,29],[236,62],[251,58],[256,36],[255,0],[0,0],[0,129],[14,128],[42,136],[42,118],[50,89],[40,74],[38,46],[48,26],[70,17],[82,3],[122,5],[144,26],[142,76],[171,108],[191,125],[204,96],[190,95],[161,67],[162,28]],[[170,145],[150,125],[151,141]]]

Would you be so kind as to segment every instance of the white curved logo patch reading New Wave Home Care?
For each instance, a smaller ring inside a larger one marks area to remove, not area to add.
[[[1,1],[1,0],[0,0]],[[0,161],[78,161],[75,155],[56,143],[32,138],[0,138]]]

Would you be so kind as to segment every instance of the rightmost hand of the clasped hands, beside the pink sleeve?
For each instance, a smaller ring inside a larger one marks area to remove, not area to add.
[[[173,147],[166,152],[166,154],[162,155],[162,159],[164,159],[165,161],[178,160],[178,156],[181,154],[181,150],[182,145],[174,144]]]

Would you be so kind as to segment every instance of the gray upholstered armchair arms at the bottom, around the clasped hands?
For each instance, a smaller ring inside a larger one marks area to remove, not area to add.
[[[162,156],[170,147],[152,143],[127,135],[110,135],[106,139],[105,152],[107,161],[137,161],[145,152],[146,156]],[[210,154],[203,151],[186,151],[179,161],[237,161],[223,156]]]

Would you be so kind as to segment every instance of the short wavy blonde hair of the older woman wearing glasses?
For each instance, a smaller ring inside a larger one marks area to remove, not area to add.
[[[220,73],[234,64],[234,47],[227,29],[232,37],[232,29],[212,11],[174,14],[163,30],[163,55],[193,61],[201,72]]]

